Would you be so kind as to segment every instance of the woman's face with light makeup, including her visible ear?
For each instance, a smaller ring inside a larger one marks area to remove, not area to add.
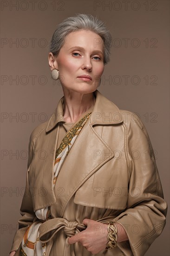
[[[66,36],[57,57],[49,54],[49,64],[51,70],[59,70],[63,89],[79,93],[94,92],[104,71],[103,40],[92,31],[72,32]]]

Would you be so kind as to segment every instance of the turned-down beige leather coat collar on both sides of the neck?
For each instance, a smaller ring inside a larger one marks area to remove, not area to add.
[[[113,102],[107,99],[98,90],[94,92],[94,95],[96,102],[89,118],[92,125],[118,124],[123,121],[119,108]],[[58,122],[65,122],[63,117],[63,105],[64,96],[59,100],[57,108],[47,124],[46,132],[51,131]]]

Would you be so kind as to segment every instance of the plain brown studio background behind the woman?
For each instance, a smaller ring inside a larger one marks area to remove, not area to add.
[[[0,255],[8,255],[20,217],[29,136],[33,128],[50,118],[63,96],[59,82],[54,84],[50,77],[47,43],[56,25],[75,13],[98,14],[111,31],[111,61],[98,90],[119,108],[138,113],[144,122],[169,202],[170,1],[13,0],[0,4]],[[111,84],[106,80],[109,76]],[[169,256],[169,238],[167,218],[162,235],[146,255]]]

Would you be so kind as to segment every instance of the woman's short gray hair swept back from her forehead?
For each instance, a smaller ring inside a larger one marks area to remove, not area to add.
[[[102,38],[104,42],[104,64],[107,64],[110,61],[111,33],[107,30],[103,21],[98,20],[97,17],[91,14],[78,13],[76,16],[68,17],[58,24],[49,45],[50,52],[57,56],[64,45],[65,37],[80,29],[90,30]]]

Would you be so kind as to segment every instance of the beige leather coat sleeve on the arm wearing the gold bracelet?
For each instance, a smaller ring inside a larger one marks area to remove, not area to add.
[[[125,129],[131,176],[127,208],[114,221],[126,230],[133,255],[143,256],[163,231],[167,204],[163,199],[154,151],[144,124],[141,120],[129,121]],[[119,244],[124,247],[124,242]]]

